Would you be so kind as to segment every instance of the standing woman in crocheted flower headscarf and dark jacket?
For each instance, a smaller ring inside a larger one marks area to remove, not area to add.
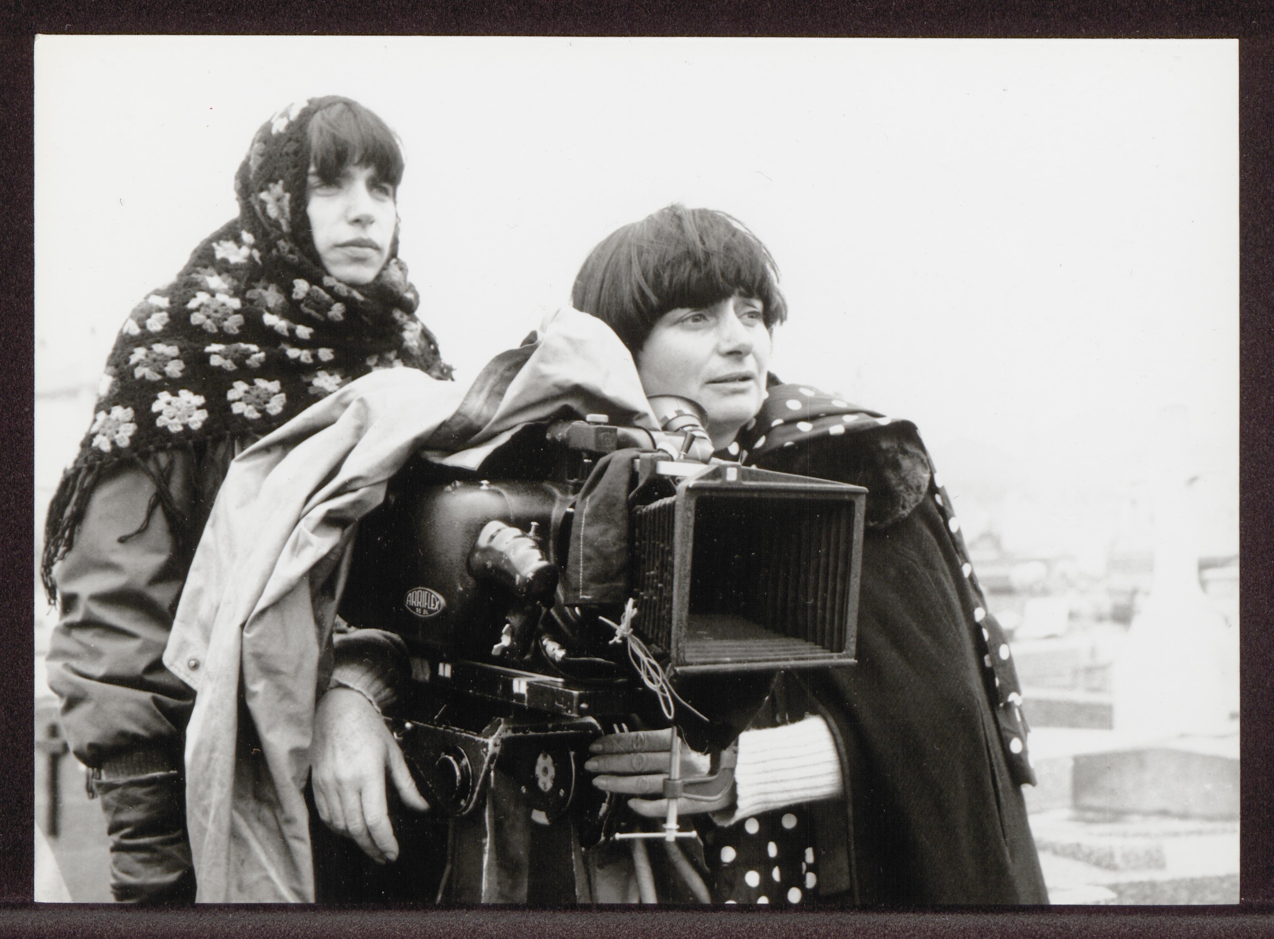
[[[451,377],[397,257],[394,133],[340,97],[252,138],[238,217],[124,321],[48,510],[48,684],[93,771],[120,901],[192,901],[182,749],[192,691],[162,664],[233,456],[375,369]]]

